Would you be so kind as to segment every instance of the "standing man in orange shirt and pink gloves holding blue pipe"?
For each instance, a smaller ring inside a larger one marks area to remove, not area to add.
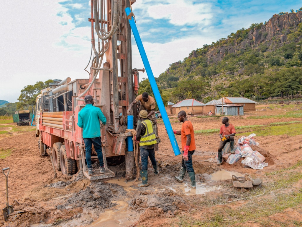
[[[192,155],[196,149],[195,139],[194,139],[194,129],[191,121],[187,119],[187,114],[185,111],[180,111],[177,115],[177,118],[182,122],[182,130],[173,131],[176,135],[182,136],[182,168],[180,169],[179,176],[175,176],[175,179],[179,182],[183,182],[183,178],[186,174],[186,171],[190,177],[190,187],[196,188],[195,182],[195,172],[192,164]]]

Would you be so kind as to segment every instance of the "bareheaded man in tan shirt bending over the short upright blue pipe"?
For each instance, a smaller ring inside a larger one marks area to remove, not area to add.
[[[146,110],[148,115],[147,118],[152,121],[154,125],[154,130],[155,134],[157,135],[156,132],[156,118],[155,118],[155,100],[152,96],[150,96],[147,92],[143,92],[143,94],[138,95],[133,102],[129,105],[129,108],[127,110],[127,114],[131,113],[131,109],[133,108],[133,105],[136,104],[137,102],[140,102],[140,107],[138,112],[140,113],[141,110]],[[140,125],[142,122],[141,117],[139,116],[137,119],[137,125]]]

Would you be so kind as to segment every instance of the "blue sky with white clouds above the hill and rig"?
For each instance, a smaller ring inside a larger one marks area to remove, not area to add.
[[[302,7],[299,1],[137,0],[136,25],[154,76],[192,50],[252,23]],[[90,1],[1,1],[0,99],[16,102],[23,87],[48,79],[88,78]],[[133,68],[143,68],[132,37]],[[140,78],[147,77],[140,73]]]

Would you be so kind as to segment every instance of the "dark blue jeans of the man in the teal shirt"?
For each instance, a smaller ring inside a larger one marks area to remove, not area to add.
[[[86,155],[87,167],[92,168],[92,164],[91,164],[92,144],[95,148],[96,153],[98,154],[98,161],[100,162],[100,166],[104,166],[101,137],[84,138],[84,143],[85,143],[85,155]]]

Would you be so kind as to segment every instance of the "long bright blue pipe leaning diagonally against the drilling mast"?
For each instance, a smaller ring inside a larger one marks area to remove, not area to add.
[[[127,16],[129,16],[130,13],[131,13],[130,8],[126,8],[125,12],[126,12]],[[180,155],[180,150],[179,150],[177,141],[175,139],[175,135],[173,133],[172,126],[171,126],[168,114],[167,114],[167,112],[165,110],[165,106],[164,106],[164,104],[162,102],[162,97],[160,96],[160,93],[159,93],[159,90],[158,90],[158,87],[157,87],[157,84],[156,84],[153,72],[151,70],[151,67],[150,67],[150,64],[149,64],[149,61],[148,61],[148,58],[147,58],[147,55],[146,55],[146,51],[145,51],[145,49],[143,47],[142,40],[140,39],[140,34],[138,33],[136,24],[134,22],[134,18],[133,17],[131,17],[131,18],[132,18],[132,20],[129,19],[128,21],[130,23],[130,27],[132,29],[132,33],[134,35],[134,38],[135,38],[138,50],[140,51],[140,57],[143,60],[143,63],[144,63],[145,69],[146,69],[146,73],[148,75],[149,82],[151,84],[151,87],[152,87],[152,90],[153,90],[153,94],[155,96],[155,99],[156,99],[159,111],[162,114],[162,120],[164,121],[165,127],[167,129],[168,136],[169,136],[169,139],[170,139],[170,142],[171,142],[174,154],[175,155]]]

